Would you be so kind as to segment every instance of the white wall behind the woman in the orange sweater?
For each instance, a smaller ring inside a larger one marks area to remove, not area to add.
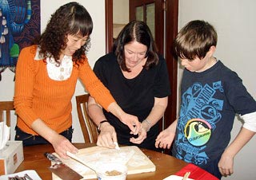
[[[58,9],[59,6],[66,4],[67,2],[72,2],[68,0],[43,0],[41,1],[41,32],[46,28],[46,24],[50,19],[50,15]],[[91,34],[91,47],[88,53],[88,58],[91,67],[94,66],[94,62],[105,54],[106,43],[105,43],[105,0],[77,0],[76,2],[81,3],[86,7],[86,10],[90,13],[93,22],[94,29]],[[82,84],[78,81],[77,88],[74,96],[84,94],[84,88]],[[2,72],[2,80],[0,81],[0,100],[13,100],[14,96],[14,72],[10,72],[6,69]],[[74,135],[73,142],[79,143],[83,142],[82,131],[78,123],[78,115],[76,112],[75,99],[72,99],[73,105],[73,126]],[[15,124],[12,124],[11,129],[14,130]],[[11,139],[14,139],[13,133],[11,134]]]

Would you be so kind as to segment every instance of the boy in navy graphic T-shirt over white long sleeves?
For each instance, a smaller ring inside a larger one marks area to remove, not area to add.
[[[234,156],[256,132],[256,102],[237,73],[214,57],[217,39],[214,27],[199,20],[175,38],[175,53],[185,67],[180,115],[158,135],[155,146],[170,148],[173,143],[174,157],[222,178],[233,174]],[[236,114],[244,123],[230,143]]]

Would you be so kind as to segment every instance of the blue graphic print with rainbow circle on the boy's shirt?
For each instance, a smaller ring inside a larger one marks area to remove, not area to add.
[[[182,106],[178,119],[178,135],[175,140],[178,155],[186,162],[206,164],[209,157],[205,149],[216,124],[221,119],[223,100],[214,94],[223,92],[220,81],[213,84],[194,83],[182,94]]]

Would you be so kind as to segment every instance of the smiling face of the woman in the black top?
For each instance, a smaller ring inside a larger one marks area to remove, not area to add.
[[[125,57],[127,68],[134,68],[144,62],[147,47],[137,41],[125,45]]]

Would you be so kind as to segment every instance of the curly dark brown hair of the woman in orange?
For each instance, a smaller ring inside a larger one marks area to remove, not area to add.
[[[34,44],[39,45],[43,57],[54,57],[59,65],[62,49],[66,48],[67,35],[88,36],[86,44],[82,45],[73,54],[73,61],[83,61],[86,52],[90,49],[90,33],[93,30],[93,21],[86,8],[78,2],[69,2],[60,6],[46,25],[45,31],[38,37]]]

